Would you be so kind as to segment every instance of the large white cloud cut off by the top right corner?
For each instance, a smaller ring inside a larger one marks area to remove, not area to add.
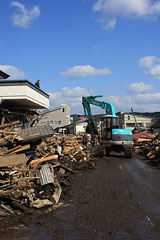
[[[93,11],[100,13],[100,21],[106,29],[114,29],[118,17],[141,18],[160,15],[160,1],[151,0],[97,0]]]

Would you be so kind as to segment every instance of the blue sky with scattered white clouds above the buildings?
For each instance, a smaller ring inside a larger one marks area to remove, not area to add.
[[[40,79],[50,108],[160,111],[160,0],[1,0],[0,26],[0,69]]]

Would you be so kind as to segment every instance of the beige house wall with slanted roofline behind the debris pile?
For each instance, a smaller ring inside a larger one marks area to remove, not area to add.
[[[39,120],[39,124],[49,124],[54,129],[70,124],[70,108],[62,104],[59,108],[47,111]]]

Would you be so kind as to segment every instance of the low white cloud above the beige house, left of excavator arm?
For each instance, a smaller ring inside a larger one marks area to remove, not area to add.
[[[59,92],[49,93],[49,95],[50,108],[67,104],[71,108],[71,113],[83,113],[82,96],[94,95],[94,92],[81,87],[64,87]]]

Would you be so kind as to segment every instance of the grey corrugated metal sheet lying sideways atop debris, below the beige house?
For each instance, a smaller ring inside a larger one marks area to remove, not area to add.
[[[54,130],[50,125],[38,125],[31,128],[22,129],[21,137],[23,140],[38,138],[38,137],[47,137],[54,134]]]

